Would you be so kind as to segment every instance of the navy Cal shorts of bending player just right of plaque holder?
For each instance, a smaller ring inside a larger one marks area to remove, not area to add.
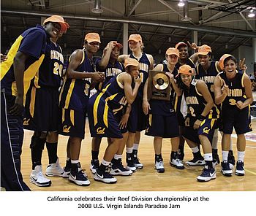
[[[208,119],[202,121],[199,128],[194,130],[192,126],[184,127],[184,133],[183,136],[192,142],[200,143],[199,135],[207,136],[209,141],[212,142],[213,136],[214,136],[214,128],[216,123],[215,118]]]

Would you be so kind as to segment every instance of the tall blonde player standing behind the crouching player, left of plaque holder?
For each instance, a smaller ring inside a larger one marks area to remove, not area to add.
[[[138,147],[140,143],[140,131],[146,129],[147,117],[142,109],[143,88],[148,78],[148,70],[153,69],[154,59],[152,55],[143,53],[143,41],[140,34],[131,34],[128,39],[129,49],[132,51],[129,55],[120,55],[118,61],[124,62],[126,58],[135,58],[140,63],[140,79],[142,81],[138,96],[132,104],[132,111],[129,115],[127,141],[127,169],[136,171],[142,169],[143,164],[138,159]]]

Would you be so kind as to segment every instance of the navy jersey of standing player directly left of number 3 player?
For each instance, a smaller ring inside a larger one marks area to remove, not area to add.
[[[199,63],[197,64],[197,74],[195,78],[197,80],[203,80],[206,82],[208,90],[214,99],[214,78],[219,74],[219,69],[217,67],[217,61],[211,61],[210,67],[205,71],[203,66]]]

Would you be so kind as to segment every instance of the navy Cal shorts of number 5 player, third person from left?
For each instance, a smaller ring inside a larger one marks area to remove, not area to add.
[[[84,139],[86,127],[86,109],[61,109],[59,134]]]

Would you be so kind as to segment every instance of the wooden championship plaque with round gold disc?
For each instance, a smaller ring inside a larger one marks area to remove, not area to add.
[[[165,72],[148,72],[148,99],[170,101],[170,80]]]

